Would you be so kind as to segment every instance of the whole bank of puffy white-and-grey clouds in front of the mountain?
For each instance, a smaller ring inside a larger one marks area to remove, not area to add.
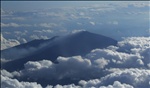
[[[57,64],[50,60],[28,61],[24,64],[25,69],[14,72],[3,69],[1,86],[42,88],[36,80],[70,78],[78,80],[78,84],[47,84],[46,88],[150,87],[150,37],[128,37],[117,46],[94,49],[85,56],[60,56],[57,61]],[[34,81],[19,81],[24,77]]]

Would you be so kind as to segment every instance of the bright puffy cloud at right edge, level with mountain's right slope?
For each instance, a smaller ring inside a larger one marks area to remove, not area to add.
[[[118,47],[118,51],[120,52],[142,56],[143,59],[141,60],[144,62],[145,66],[150,63],[150,37],[125,38],[124,41],[118,42]]]

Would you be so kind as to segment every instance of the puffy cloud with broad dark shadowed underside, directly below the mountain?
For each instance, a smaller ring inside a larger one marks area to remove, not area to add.
[[[89,59],[83,59],[81,56],[58,57],[57,61],[58,64],[54,64],[49,60],[34,62],[29,61],[25,64],[25,69],[21,71],[21,75],[28,76],[33,79],[88,79],[90,76],[100,76],[100,74],[98,73],[100,73],[100,70],[104,68],[105,65],[107,65],[107,61],[105,61],[104,59],[99,59],[92,63]],[[100,64],[102,62],[105,63]]]

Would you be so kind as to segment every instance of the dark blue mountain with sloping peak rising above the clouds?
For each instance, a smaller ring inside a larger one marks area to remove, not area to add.
[[[53,37],[48,40],[34,40],[10,49],[2,50],[3,58],[12,57],[12,61],[2,64],[8,71],[21,70],[28,61],[51,60],[57,63],[58,56],[70,57],[85,55],[92,49],[106,48],[116,45],[117,41],[88,31],[73,33],[62,37]]]

